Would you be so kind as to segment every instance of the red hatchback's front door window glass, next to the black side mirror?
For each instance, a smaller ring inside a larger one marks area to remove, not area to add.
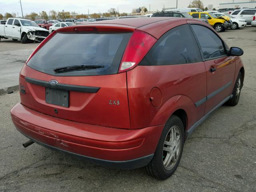
[[[226,55],[222,40],[212,30],[200,25],[191,26],[202,48],[205,59]]]

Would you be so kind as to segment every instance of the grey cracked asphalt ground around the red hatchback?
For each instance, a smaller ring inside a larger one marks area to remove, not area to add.
[[[255,192],[256,28],[226,30],[220,35],[229,46],[244,50],[245,80],[240,102],[235,107],[220,107],[196,128],[185,143],[180,165],[172,177],[158,181],[150,178],[144,168],[116,170],[37,144],[23,148],[27,138],[15,129],[10,117],[10,109],[20,102],[19,93],[14,92],[0,96],[0,192]],[[22,45],[12,43],[15,47]],[[35,45],[22,47],[30,50]],[[16,52],[9,56],[12,60],[25,59]],[[0,63],[4,59],[1,56]],[[17,80],[18,75],[13,77]]]

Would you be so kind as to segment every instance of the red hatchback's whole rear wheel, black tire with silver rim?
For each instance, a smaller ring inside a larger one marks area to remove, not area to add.
[[[184,146],[184,126],[178,116],[167,121],[146,172],[158,180],[165,180],[174,174],[180,163]]]

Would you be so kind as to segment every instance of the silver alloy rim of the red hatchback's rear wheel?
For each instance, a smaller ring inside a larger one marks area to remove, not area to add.
[[[178,160],[181,148],[181,133],[178,126],[172,126],[168,131],[163,147],[163,165],[171,170]]]

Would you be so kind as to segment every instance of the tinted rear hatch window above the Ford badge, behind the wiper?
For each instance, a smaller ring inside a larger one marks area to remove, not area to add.
[[[92,76],[118,73],[131,32],[56,33],[27,65],[54,76]],[[72,66],[96,66],[54,71]],[[97,66],[100,66],[97,68]]]

